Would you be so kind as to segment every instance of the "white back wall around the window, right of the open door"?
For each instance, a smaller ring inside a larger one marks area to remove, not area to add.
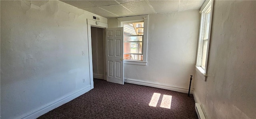
[[[116,27],[115,21],[108,19],[108,27]],[[188,89],[195,74],[199,22],[199,10],[149,15],[147,65],[125,64],[124,77]]]

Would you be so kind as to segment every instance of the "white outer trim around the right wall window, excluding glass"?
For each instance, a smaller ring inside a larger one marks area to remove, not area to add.
[[[196,72],[198,72],[200,75],[204,76],[204,81],[206,81],[207,78],[207,69],[208,69],[208,59],[209,59],[209,49],[210,49],[210,39],[211,39],[211,26],[212,26],[212,14],[213,14],[213,3],[214,0],[206,0],[204,2],[204,4],[202,5],[201,9],[200,9],[200,13],[201,11],[206,10],[209,6],[211,6],[211,12],[210,12],[210,26],[209,26],[209,34],[208,34],[208,44],[207,44],[207,54],[206,54],[206,63],[205,63],[205,68],[203,69],[201,67],[201,59],[202,59],[202,50],[203,50],[203,42],[202,42],[202,14],[200,17],[200,31],[199,31],[199,37],[198,37],[198,49],[197,49],[197,57],[196,57]]]

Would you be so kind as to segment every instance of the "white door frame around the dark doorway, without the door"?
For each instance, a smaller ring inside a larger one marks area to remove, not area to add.
[[[94,21],[94,20],[89,20],[87,19],[87,33],[88,33],[88,52],[89,52],[89,74],[90,74],[90,86],[91,89],[94,88],[93,85],[93,70],[92,70],[92,32],[91,32],[91,27],[98,27],[98,28],[103,28],[103,52],[104,52],[104,80],[106,80],[106,53],[105,53],[105,42],[106,42],[106,36],[105,36],[105,32],[106,32],[106,28],[108,28],[108,24],[107,23],[102,23],[100,21]]]

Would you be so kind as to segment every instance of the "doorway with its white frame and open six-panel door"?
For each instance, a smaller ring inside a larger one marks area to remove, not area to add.
[[[91,89],[94,88],[93,78],[124,84],[123,27],[107,28],[108,24],[94,20],[87,20],[87,24]]]

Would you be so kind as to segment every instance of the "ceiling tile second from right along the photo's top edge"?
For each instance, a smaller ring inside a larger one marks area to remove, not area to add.
[[[156,13],[176,12],[178,11],[178,0],[148,0]]]

